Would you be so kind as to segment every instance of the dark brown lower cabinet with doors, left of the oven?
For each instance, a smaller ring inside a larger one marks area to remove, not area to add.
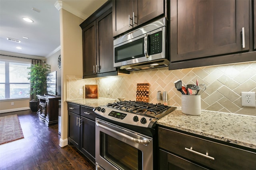
[[[96,115],[92,108],[78,106],[68,103],[68,145],[74,145],[95,163]]]

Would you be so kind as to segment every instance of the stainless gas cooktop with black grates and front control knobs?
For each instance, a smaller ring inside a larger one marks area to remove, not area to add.
[[[156,121],[176,107],[137,101],[120,101],[94,108],[104,119],[139,127],[154,127]]]

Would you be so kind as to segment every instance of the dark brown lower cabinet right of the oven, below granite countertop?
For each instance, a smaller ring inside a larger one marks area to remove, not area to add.
[[[160,170],[252,170],[256,150],[158,127]]]

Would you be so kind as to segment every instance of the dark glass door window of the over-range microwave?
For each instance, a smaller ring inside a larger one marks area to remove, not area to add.
[[[115,48],[115,63],[144,57],[144,38]]]

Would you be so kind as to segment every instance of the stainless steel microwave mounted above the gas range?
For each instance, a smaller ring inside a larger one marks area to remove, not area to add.
[[[141,70],[168,66],[166,18],[114,39],[114,67]]]

